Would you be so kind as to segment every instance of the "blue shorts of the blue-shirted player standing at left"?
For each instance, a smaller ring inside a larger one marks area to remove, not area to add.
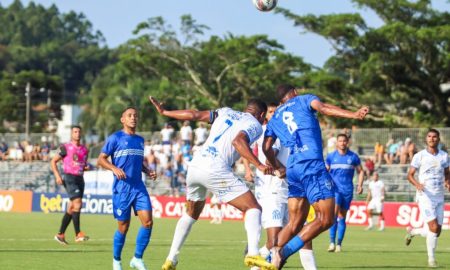
[[[114,218],[120,221],[131,219],[131,207],[134,209],[134,215],[140,210],[152,210],[152,203],[147,191],[113,193],[113,212]]]

